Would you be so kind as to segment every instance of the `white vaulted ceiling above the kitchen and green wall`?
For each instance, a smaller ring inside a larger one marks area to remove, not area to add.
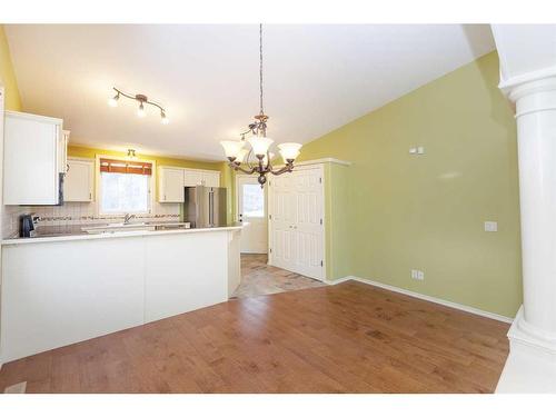
[[[276,142],[308,142],[494,49],[488,26],[264,28],[265,110]],[[60,117],[71,141],[222,160],[258,113],[258,26],[11,24],[24,111]],[[112,86],[167,108],[170,125]]]

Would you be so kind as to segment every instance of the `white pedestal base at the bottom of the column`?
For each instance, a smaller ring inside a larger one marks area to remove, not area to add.
[[[524,329],[523,306],[508,331],[509,356],[502,371],[497,394],[556,394],[556,341]]]

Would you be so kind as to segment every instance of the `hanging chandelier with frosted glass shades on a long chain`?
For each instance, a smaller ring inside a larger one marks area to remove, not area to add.
[[[278,145],[285,166],[279,169],[272,168],[270,146],[274,140],[267,138],[268,116],[265,115],[262,106],[262,24],[259,26],[259,87],[260,87],[260,111],[255,116],[255,121],[248,126],[248,130],[240,133],[241,140],[222,140],[228,165],[236,171],[248,175],[258,173],[258,181],[262,188],[267,182],[267,175],[279,176],[294,170],[294,161],[301,149],[300,143],[287,142]],[[248,136],[246,140],[246,136]],[[249,143],[249,147],[246,145]]]

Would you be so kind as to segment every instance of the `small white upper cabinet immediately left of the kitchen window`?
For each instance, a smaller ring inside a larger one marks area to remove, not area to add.
[[[92,159],[68,159],[67,168],[63,181],[63,200],[92,201],[95,161]]]

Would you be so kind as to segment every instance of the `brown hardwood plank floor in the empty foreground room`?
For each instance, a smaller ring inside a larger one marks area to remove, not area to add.
[[[508,325],[360,282],[235,299],[6,364],[0,391],[492,393]]]

